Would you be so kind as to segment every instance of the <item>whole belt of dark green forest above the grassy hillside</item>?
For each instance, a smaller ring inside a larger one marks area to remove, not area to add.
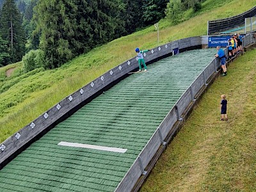
[[[24,72],[58,68],[163,18],[189,19],[204,1],[0,0],[0,67],[22,60]]]

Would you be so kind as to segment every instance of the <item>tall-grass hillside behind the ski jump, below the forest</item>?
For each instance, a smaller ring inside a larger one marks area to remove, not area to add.
[[[228,9],[234,4],[239,9]],[[170,26],[170,21],[161,20],[160,44],[188,36],[206,35],[207,20],[231,17],[253,6],[255,0],[226,0],[222,4],[207,0],[203,4],[202,14],[177,26]],[[189,14],[186,13],[186,17]],[[23,74],[21,62],[0,68],[0,142],[84,84],[135,56],[135,47],[145,49],[156,46],[157,33],[152,26],[97,47],[55,70],[36,69]],[[5,72],[11,67],[16,69],[7,78]]]

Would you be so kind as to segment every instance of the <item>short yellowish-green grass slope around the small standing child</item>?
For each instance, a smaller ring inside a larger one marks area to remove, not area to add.
[[[141,192],[256,191],[256,49],[204,94]],[[220,95],[228,122],[220,121]]]

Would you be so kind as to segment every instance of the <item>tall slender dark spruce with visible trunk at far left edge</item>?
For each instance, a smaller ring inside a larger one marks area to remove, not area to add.
[[[12,63],[20,61],[24,55],[25,38],[22,18],[13,0],[6,0],[1,10],[0,34],[8,42],[8,52]]]

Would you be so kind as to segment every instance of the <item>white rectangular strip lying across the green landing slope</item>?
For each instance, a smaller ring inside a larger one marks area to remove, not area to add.
[[[62,146],[68,146],[68,147],[81,147],[81,148],[92,148],[96,150],[106,150],[110,152],[118,152],[124,154],[127,151],[127,148],[115,148],[115,147],[104,147],[100,145],[88,145],[88,144],[83,144],[83,143],[69,143],[65,141],[61,141],[58,143],[58,145]]]

